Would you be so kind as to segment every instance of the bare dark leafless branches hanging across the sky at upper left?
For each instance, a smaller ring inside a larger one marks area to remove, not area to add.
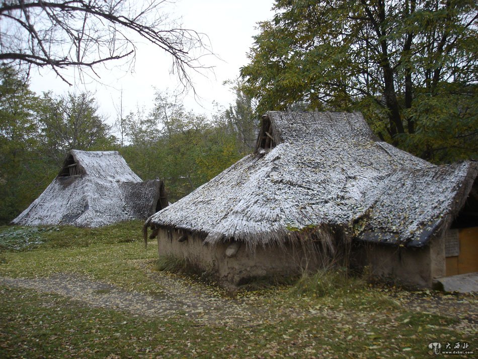
[[[62,70],[125,59],[134,63],[135,39],[160,47],[172,59],[172,73],[191,85],[189,70],[206,68],[211,54],[207,36],[171,21],[167,0],[2,0],[0,62],[50,67],[66,83]]]

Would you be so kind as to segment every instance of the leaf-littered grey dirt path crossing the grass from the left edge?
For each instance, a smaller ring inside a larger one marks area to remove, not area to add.
[[[191,316],[198,321],[247,325],[257,323],[257,318],[270,316],[266,308],[260,308],[245,300],[224,299],[201,293],[179,279],[161,278],[164,295],[146,295],[128,292],[118,286],[90,280],[75,274],[56,274],[41,278],[0,277],[0,284],[33,289],[43,293],[85,302],[93,307],[114,308],[145,316]]]

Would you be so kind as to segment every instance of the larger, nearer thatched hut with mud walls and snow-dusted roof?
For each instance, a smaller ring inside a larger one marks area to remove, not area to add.
[[[477,172],[476,162],[435,166],[379,141],[358,113],[269,112],[254,154],[145,228],[160,255],[226,283],[349,256],[376,275],[430,286],[447,254],[463,255],[446,249],[459,245],[460,228],[478,248]],[[476,258],[466,270],[478,270]]]

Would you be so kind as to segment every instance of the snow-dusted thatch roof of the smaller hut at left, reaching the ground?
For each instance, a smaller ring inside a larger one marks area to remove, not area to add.
[[[141,181],[118,152],[71,150],[58,176],[12,223],[100,227],[145,219],[167,204],[164,183]]]

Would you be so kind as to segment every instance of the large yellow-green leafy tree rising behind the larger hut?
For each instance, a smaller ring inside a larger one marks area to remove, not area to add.
[[[394,145],[476,158],[478,6],[472,0],[277,0],[242,68],[258,112],[361,110]]]

